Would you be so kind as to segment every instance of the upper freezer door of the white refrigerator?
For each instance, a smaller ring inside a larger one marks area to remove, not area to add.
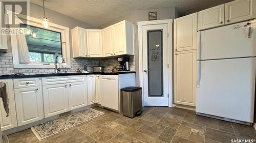
[[[198,60],[256,56],[256,31],[248,38],[247,22],[198,33]]]

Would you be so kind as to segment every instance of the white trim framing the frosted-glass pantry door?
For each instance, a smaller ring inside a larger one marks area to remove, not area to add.
[[[142,41],[142,26],[154,24],[167,24],[168,25],[168,106],[173,106],[173,19],[154,20],[154,21],[140,21],[138,25],[138,44],[139,55],[143,55],[143,41]],[[139,57],[139,86],[143,88],[143,56]],[[142,106],[144,106],[144,92],[142,90]]]

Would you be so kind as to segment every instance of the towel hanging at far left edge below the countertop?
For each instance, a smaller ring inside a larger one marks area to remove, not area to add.
[[[8,92],[7,92],[7,83],[4,81],[0,81],[0,98],[2,98],[4,103],[4,108],[7,113],[7,116],[9,116],[9,103],[8,103]]]

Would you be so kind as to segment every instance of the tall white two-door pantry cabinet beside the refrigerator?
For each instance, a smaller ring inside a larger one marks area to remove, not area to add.
[[[196,106],[197,13],[174,19],[174,102]]]

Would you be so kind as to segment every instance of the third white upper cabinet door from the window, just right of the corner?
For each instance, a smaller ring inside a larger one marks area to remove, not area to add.
[[[113,50],[113,39],[112,39],[112,28],[111,26],[106,27],[102,30],[102,47],[103,56],[112,56]]]

